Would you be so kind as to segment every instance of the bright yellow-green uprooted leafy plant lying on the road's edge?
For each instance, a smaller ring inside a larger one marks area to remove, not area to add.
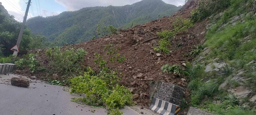
[[[132,94],[128,88],[118,84],[119,73],[110,70],[107,66],[108,62],[123,62],[125,59],[112,46],[107,45],[105,48],[109,56],[107,61],[103,60],[100,54],[95,54],[97,59],[94,62],[99,65],[99,71],[95,72],[88,67],[83,76],[70,80],[70,93],[85,94],[83,98],[74,98],[73,101],[94,106],[105,105],[108,114],[121,115],[119,109],[132,104]]]

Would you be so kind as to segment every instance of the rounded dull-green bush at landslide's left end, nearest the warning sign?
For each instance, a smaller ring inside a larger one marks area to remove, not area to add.
[[[61,51],[59,47],[55,47],[54,50],[46,50],[46,56],[52,58],[50,61],[52,69],[69,75],[81,71],[80,62],[83,62],[86,54],[87,52],[81,48]]]

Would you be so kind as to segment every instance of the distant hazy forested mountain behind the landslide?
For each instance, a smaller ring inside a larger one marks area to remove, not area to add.
[[[128,28],[164,16],[170,16],[180,7],[162,0],[142,0],[132,5],[87,7],[65,11],[57,16],[28,19],[27,26],[35,34],[46,35],[49,41],[62,46],[92,39],[97,25]]]

